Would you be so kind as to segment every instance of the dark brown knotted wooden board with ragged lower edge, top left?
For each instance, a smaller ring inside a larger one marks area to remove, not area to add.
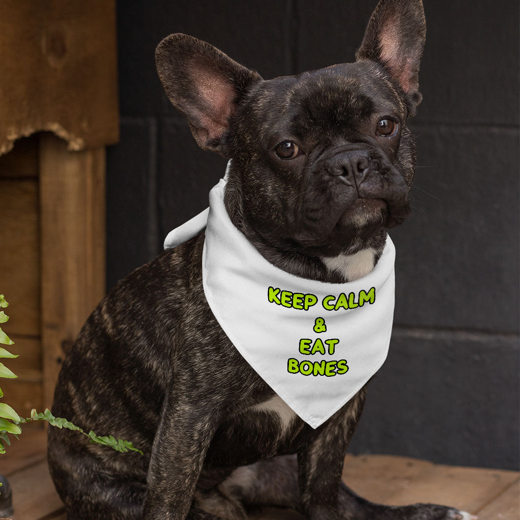
[[[115,1],[0,2],[0,155],[47,130],[70,150],[119,136]]]

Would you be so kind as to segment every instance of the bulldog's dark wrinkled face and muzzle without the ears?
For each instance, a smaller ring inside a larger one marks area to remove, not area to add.
[[[244,218],[268,243],[338,254],[408,214],[407,107],[378,69],[362,61],[263,81],[236,111],[231,176],[248,187]]]

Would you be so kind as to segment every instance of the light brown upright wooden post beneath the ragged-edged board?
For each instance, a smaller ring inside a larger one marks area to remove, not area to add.
[[[43,405],[61,361],[105,294],[105,148],[40,140]]]

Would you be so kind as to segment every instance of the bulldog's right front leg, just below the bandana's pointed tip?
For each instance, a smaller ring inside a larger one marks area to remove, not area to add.
[[[309,520],[340,520],[338,493],[343,461],[365,400],[362,388],[318,428],[314,440],[298,451],[301,510]]]

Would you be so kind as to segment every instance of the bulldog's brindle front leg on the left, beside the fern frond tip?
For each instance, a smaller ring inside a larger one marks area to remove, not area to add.
[[[204,404],[204,396],[176,387],[168,391],[155,435],[142,520],[217,518],[193,515],[190,509],[219,412]]]

